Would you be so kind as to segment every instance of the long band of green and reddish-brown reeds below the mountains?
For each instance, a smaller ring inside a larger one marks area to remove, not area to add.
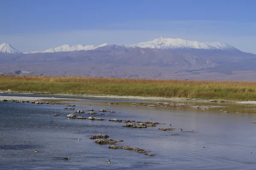
[[[0,91],[255,100],[256,82],[0,75]]]

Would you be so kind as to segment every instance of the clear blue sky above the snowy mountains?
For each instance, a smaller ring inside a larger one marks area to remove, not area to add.
[[[160,36],[256,54],[256,0],[0,0],[0,43],[19,51]]]

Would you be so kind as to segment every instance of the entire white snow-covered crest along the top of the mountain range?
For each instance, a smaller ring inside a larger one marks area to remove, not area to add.
[[[101,45],[61,45],[56,48],[49,48],[44,51],[30,51],[24,52],[24,54],[34,54],[34,53],[55,53],[55,52],[66,52],[66,51],[81,51],[81,50],[94,50],[96,48],[105,47],[110,45],[104,43]],[[115,44],[113,44],[115,45]],[[117,45],[125,48],[154,48],[154,49],[203,49],[203,50],[221,50],[221,51],[240,51],[239,49],[228,45],[224,42],[198,42],[183,40],[180,38],[166,38],[166,37],[157,37],[152,41],[140,42],[131,45]],[[3,43],[0,45],[0,52],[10,53],[10,54],[20,54],[20,51],[17,51],[11,45]]]

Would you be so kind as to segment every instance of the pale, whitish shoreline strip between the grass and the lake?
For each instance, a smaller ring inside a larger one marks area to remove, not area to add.
[[[1,96],[1,94],[28,94],[41,95],[42,97],[28,97],[28,96]],[[43,97],[43,96],[55,97]],[[0,92],[0,99],[16,99],[16,100],[59,100],[58,96],[65,97],[91,97],[91,98],[108,98],[108,99],[136,99],[136,100],[156,100],[156,101],[175,101],[175,102],[222,102],[222,103],[237,103],[243,105],[256,105],[256,101],[234,101],[223,99],[190,99],[190,98],[165,98],[165,97],[144,97],[144,96],[111,96],[111,95],[81,95],[81,94],[50,94],[50,93],[19,93],[19,92]],[[66,98],[68,100],[79,100],[73,98]]]

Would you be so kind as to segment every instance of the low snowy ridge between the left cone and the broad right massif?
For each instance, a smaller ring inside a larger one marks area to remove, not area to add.
[[[80,50],[94,50],[99,47],[104,47],[108,45],[107,43],[101,45],[61,45],[60,47],[56,48],[49,48],[45,51],[31,51],[31,52],[24,52],[24,54],[32,54],[32,53],[54,53],[54,52],[63,52],[63,51],[80,51]]]

